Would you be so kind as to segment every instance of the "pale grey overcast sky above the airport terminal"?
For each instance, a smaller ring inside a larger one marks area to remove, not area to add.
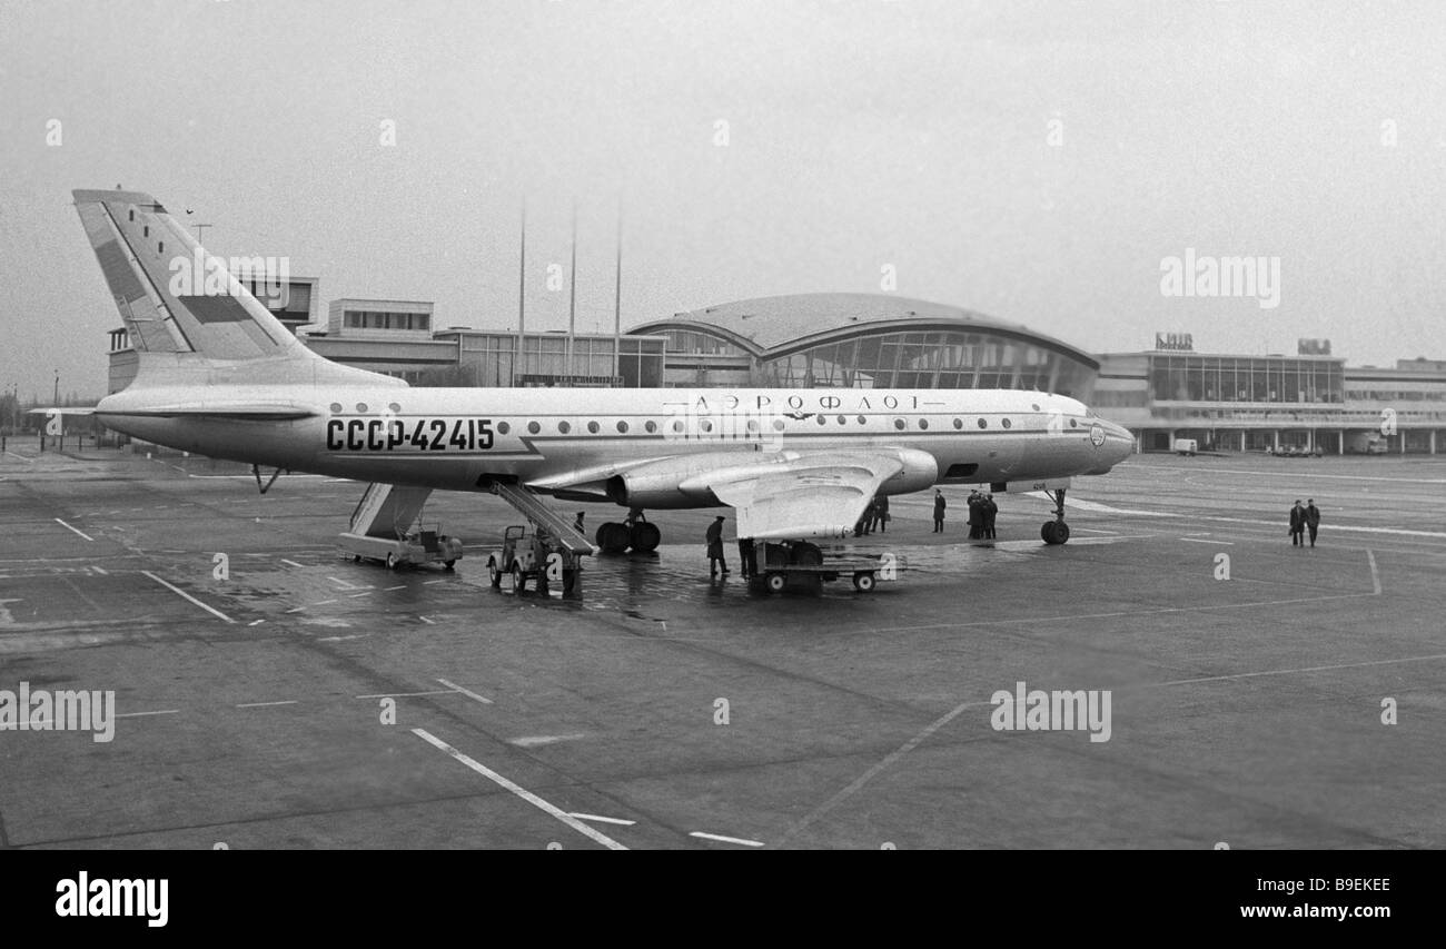
[[[1446,359],[1443,46],[1433,0],[0,0],[0,383],[103,393],[69,191],[117,184],[437,325],[515,327],[525,198],[564,327],[576,198],[584,330],[620,203],[625,327],[892,265],[1090,352]],[[1163,295],[1187,247],[1280,258],[1278,305]]]

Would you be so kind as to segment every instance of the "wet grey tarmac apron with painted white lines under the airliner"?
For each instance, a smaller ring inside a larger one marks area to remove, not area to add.
[[[0,731],[0,846],[1439,848],[1443,489],[1446,459],[1139,456],[1076,480],[1064,547],[1018,495],[972,544],[946,489],[944,534],[920,495],[829,545],[897,582],[782,596],[664,512],[564,600],[490,586],[493,496],[428,503],[455,571],[389,571],[333,545],[360,485],[12,443],[0,690],[117,718]],[[996,729],[1021,681],[1108,690],[1108,741]]]

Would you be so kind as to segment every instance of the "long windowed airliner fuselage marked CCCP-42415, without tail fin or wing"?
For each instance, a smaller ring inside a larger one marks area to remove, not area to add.
[[[95,414],[146,441],[294,472],[445,490],[486,490],[493,480],[515,479],[600,501],[617,472],[693,456],[700,464],[713,456],[735,464],[748,453],[763,461],[790,451],[901,450],[925,469],[882,486],[882,493],[901,493],[928,483],[1103,473],[1132,450],[1128,431],[1079,401],[1030,391],[441,389],[386,382],[133,386]],[[680,492],[648,506],[716,503]]]

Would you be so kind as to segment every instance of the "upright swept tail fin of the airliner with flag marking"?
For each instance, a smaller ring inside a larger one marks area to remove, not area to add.
[[[149,194],[71,194],[136,350],[320,359]]]

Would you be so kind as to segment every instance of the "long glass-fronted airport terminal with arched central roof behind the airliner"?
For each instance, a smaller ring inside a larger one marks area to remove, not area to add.
[[[1150,350],[1090,354],[892,294],[766,297],[573,336],[435,328],[431,302],[344,298],[318,325],[317,281],[294,279],[289,302],[266,302],[307,346],[414,385],[1037,389],[1096,408],[1135,433],[1141,451],[1177,438],[1206,451],[1446,450],[1446,362],[1348,366],[1326,340],[1300,340],[1294,356],[1220,354],[1170,333]],[[110,337],[117,392],[136,360],[124,330]]]

